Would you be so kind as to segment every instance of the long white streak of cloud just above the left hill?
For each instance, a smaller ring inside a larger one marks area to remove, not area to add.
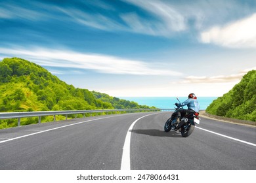
[[[7,49],[0,48],[0,56],[19,57],[48,67],[90,69],[98,73],[118,75],[182,75],[177,71],[162,69],[159,64],[100,54],[83,54],[70,50],[50,50],[46,48]]]

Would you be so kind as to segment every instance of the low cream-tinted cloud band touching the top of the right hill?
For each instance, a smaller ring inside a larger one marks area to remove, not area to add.
[[[178,82],[179,84],[213,84],[213,83],[227,83],[227,82],[236,82],[242,79],[242,77],[251,70],[256,70],[256,67],[251,69],[244,69],[240,71],[240,73],[236,75],[228,75],[228,76],[188,76]]]

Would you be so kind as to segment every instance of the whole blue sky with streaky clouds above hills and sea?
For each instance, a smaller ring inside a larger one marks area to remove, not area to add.
[[[121,96],[221,96],[256,69],[256,1],[1,1],[0,59]]]

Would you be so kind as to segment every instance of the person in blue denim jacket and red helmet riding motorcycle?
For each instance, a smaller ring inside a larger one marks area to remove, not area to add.
[[[176,124],[181,122],[181,117],[189,114],[190,112],[199,112],[199,102],[197,97],[194,93],[190,93],[188,95],[188,99],[182,103],[175,103],[177,107],[182,107],[184,105],[188,106],[188,109],[179,109],[176,113]]]

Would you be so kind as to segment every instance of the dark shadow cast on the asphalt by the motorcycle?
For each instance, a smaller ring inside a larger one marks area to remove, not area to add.
[[[159,129],[132,129],[130,132],[154,137],[182,137],[181,133],[177,133],[176,131],[165,132]]]

